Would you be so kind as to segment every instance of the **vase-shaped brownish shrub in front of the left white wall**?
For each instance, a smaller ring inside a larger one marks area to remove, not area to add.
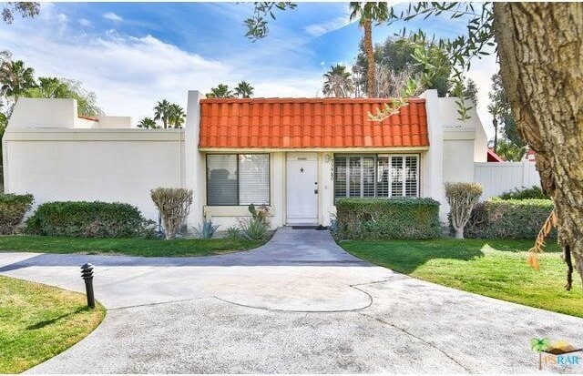
[[[159,209],[166,239],[174,239],[189,216],[192,190],[185,188],[156,188],[150,190],[154,205]]]

